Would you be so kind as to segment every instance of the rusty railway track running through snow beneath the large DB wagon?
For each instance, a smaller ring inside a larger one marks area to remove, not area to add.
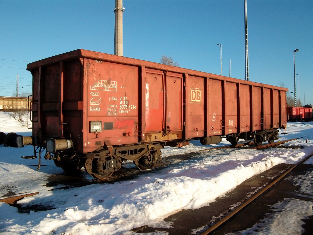
[[[303,137],[300,137],[300,138],[303,138]],[[285,141],[279,141],[279,142],[275,142],[275,143],[272,143],[272,144],[263,144],[263,145],[260,145],[260,146],[252,146],[252,145],[250,145],[250,146],[246,146],[246,148],[247,149],[265,149],[265,148],[269,148],[269,147],[275,147],[275,146],[278,146],[280,144],[284,144],[286,142],[289,142],[289,141],[292,141],[292,140],[296,140],[296,139],[299,139],[299,138],[293,138],[293,139],[289,139],[289,140],[285,140]],[[210,150],[215,150],[215,149],[228,149],[228,148],[235,148],[236,149],[236,148],[242,147],[242,146],[244,146],[244,144],[239,144],[239,145],[236,145],[236,146],[234,146],[234,145],[225,145],[225,146],[220,146],[220,147],[201,149],[201,150],[198,150],[198,151],[195,151],[195,152],[189,152],[189,153],[186,153],[186,154],[180,154],[179,155],[179,159],[180,160],[191,159],[192,155],[197,154],[198,152],[210,151]],[[156,165],[151,170],[159,170],[159,169],[163,169],[163,168],[167,167],[168,165],[171,165],[172,164],[171,159],[172,159],[171,156],[163,159],[161,164]],[[83,172],[84,171],[82,171],[82,173]],[[113,183],[113,182],[116,182],[116,181],[128,179],[130,177],[135,177],[138,174],[145,174],[145,172],[146,171],[142,171],[142,170],[138,170],[138,169],[134,169],[134,168],[121,168],[121,170],[116,171],[110,178],[105,179],[105,180],[96,180],[96,179],[93,179],[93,178],[83,180],[80,177],[74,177],[74,179],[73,179],[73,177],[71,177],[71,181],[72,182],[68,183],[68,185],[65,185],[65,186],[62,186],[62,187],[56,187],[56,188],[50,189],[49,191],[60,190],[60,189],[69,189],[69,188],[74,188],[74,187],[83,187],[83,186],[86,186],[86,185],[99,184],[99,183]],[[65,177],[63,179],[61,178],[60,180],[57,180],[57,181],[61,182],[61,184],[64,185],[64,183],[66,184],[66,177],[69,177],[69,176],[66,176],[66,175],[63,175],[63,174],[62,175],[52,175],[52,176],[49,176],[50,180],[52,180],[51,178],[53,178],[53,177],[55,177],[55,178]],[[78,180],[80,180],[80,181],[78,181]],[[51,185],[49,185],[49,183],[48,183],[47,186],[51,186]],[[16,205],[16,202],[18,200],[21,200],[24,197],[33,196],[33,195],[36,195],[36,194],[38,194],[38,192],[14,195],[14,196],[11,196],[11,197],[3,197],[3,198],[0,198],[0,202],[5,202],[5,203],[8,203],[10,205]]]

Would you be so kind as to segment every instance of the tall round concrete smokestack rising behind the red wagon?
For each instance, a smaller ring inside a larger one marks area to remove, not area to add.
[[[123,56],[123,0],[115,0],[114,55]]]

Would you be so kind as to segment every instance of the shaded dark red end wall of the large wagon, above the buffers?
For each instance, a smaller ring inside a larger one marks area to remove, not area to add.
[[[82,130],[82,66],[78,59],[42,64],[32,70],[33,136],[71,138],[80,146]]]

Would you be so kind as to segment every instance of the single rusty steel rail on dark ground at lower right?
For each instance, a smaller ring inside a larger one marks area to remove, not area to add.
[[[199,233],[198,235],[208,235],[212,234],[212,232],[216,231],[218,227],[222,226],[224,223],[226,223],[229,219],[234,217],[237,213],[242,211],[246,206],[248,206],[250,203],[252,203],[254,200],[256,200],[259,196],[261,196],[264,192],[268,191],[270,188],[272,188],[275,184],[280,182],[287,176],[292,170],[294,170],[297,166],[304,163],[307,159],[309,159],[311,156],[313,156],[313,153],[306,156],[304,159],[296,163],[294,166],[289,168],[288,170],[284,171],[281,175],[277,176],[274,180],[272,180],[268,185],[266,185],[263,189],[261,189],[259,192],[254,194],[253,196],[249,197],[246,201],[244,201],[242,204],[240,204],[238,207],[236,207],[233,211],[231,211],[229,214],[222,217],[220,220],[215,222],[212,226],[210,226],[208,229],[203,231],[202,233]],[[209,225],[208,225],[209,226]]]

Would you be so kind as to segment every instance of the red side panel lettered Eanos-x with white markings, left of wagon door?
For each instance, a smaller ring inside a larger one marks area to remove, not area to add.
[[[86,149],[138,142],[138,67],[87,59]],[[102,126],[102,128],[101,128]]]

